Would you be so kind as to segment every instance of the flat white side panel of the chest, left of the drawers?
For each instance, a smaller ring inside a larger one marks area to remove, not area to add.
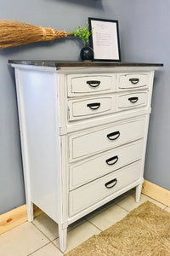
[[[23,148],[27,152],[31,201],[58,221],[59,135],[55,128],[54,81],[53,73],[20,70],[20,108],[25,115],[20,122],[25,126],[27,143]]]

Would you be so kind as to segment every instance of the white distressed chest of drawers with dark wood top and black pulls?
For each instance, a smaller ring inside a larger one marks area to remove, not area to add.
[[[15,68],[28,220],[33,204],[67,226],[136,187],[154,71],[161,64],[9,61]]]

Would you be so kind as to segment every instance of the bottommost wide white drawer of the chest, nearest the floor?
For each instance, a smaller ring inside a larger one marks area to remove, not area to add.
[[[69,194],[70,216],[135,182],[139,179],[141,171],[141,162],[138,161],[71,191]]]

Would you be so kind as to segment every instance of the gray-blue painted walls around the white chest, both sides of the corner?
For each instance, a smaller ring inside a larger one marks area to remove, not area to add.
[[[161,6],[162,5],[162,6]],[[88,17],[119,20],[122,61],[163,62],[156,73],[144,177],[170,189],[169,0],[0,0],[0,20],[70,31]],[[14,71],[8,59],[79,60],[77,39],[0,49],[0,214],[25,203]]]

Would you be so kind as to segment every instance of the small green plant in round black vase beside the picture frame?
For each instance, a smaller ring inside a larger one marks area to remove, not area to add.
[[[88,21],[86,23],[88,25]],[[93,34],[93,29],[91,30],[91,32],[89,32],[88,26],[85,26],[85,27],[77,26],[75,27],[75,30],[71,31],[71,34],[73,36],[81,38],[85,44],[85,46],[82,48],[80,52],[82,61],[93,61],[94,59],[94,50],[89,46],[89,36]]]

